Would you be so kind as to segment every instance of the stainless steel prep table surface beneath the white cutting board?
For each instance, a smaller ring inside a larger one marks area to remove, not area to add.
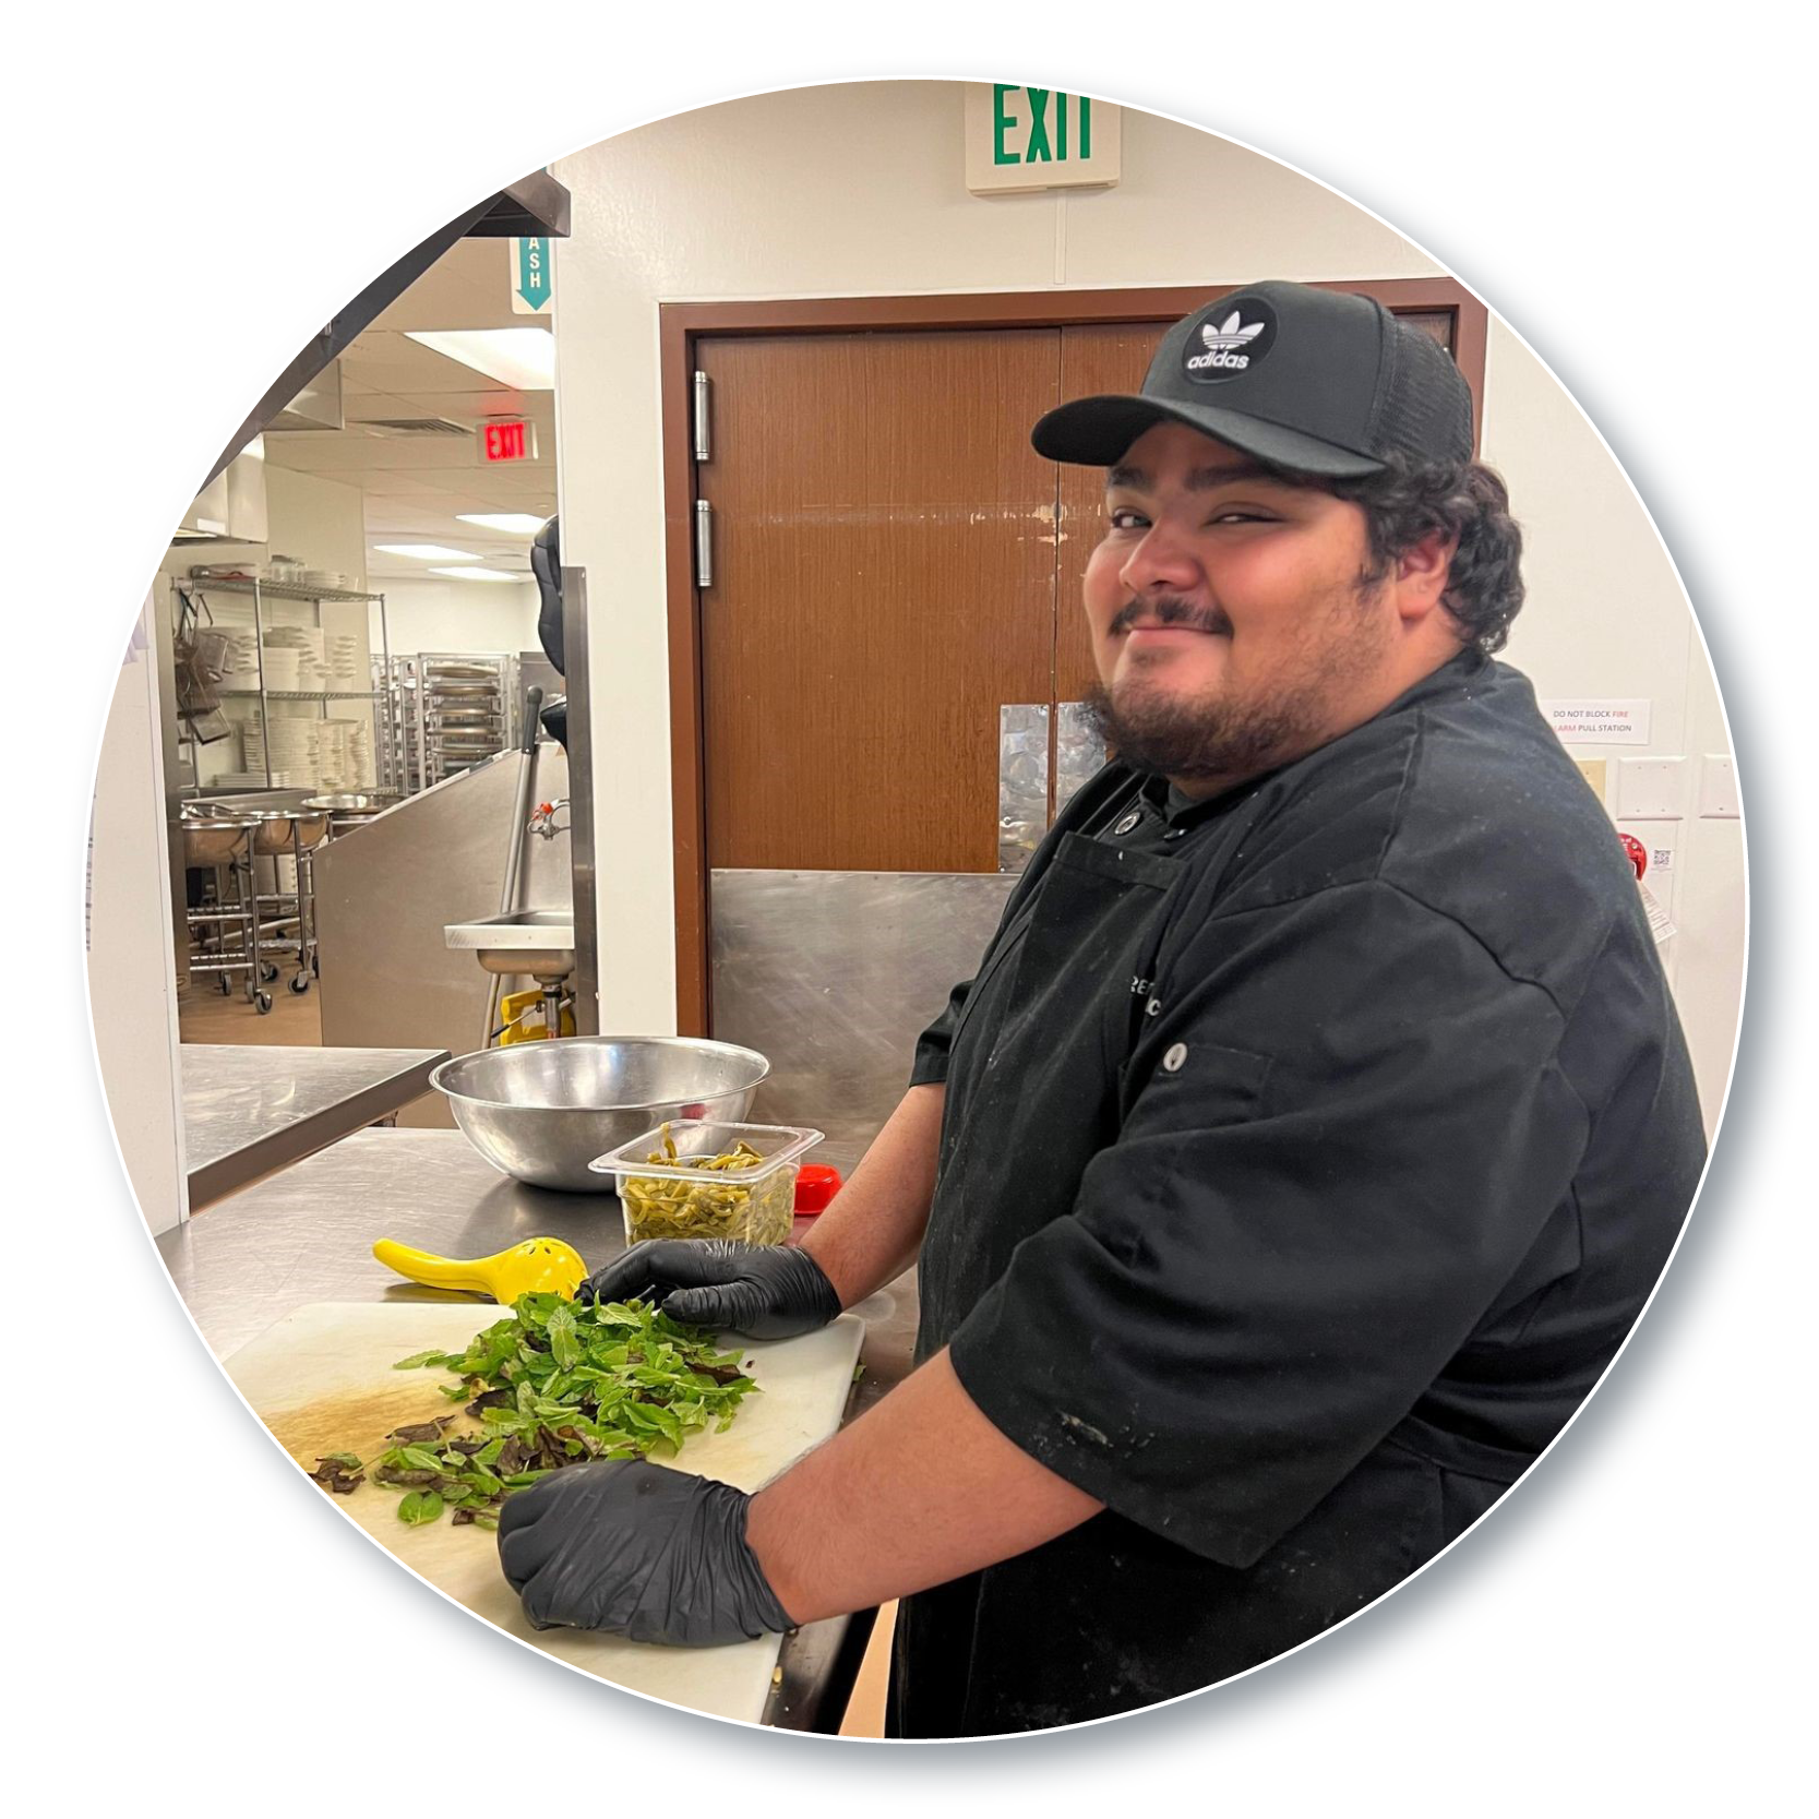
[[[826,1146],[849,1171],[857,1151]],[[806,1230],[809,1221],[797,1221]],[[402,1282],[373,1259],[391,1237],[444,1257],[486,1257],[533,1237],[573,1244],[591,1268],[626,1248],[611,1195],[553,1193],[495,1173],[458,1131],[367,1130],[258,1182],[231,1204],[166,1231],[158,1251],[204,1342],[224,1359],[293,1308],[317,1301],[462,1301]],[[487,1322],[475,1302],[475,1330]],[[910,1370],[915,1273],[855,1310],[866,1322],[864,1377],[848,1419]],[[784,1639],[782,1681],[766,1723],[817,1730],[829,1697],[844,1703],[862,1635],[849,1619],[806,1624]],[[828,1723],[839,1713],[829,1712]]]

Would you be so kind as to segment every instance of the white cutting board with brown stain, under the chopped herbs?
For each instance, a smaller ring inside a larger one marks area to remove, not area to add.
[[[398,1359],[440,1346],[460,1352],[502,1317],[489,1302],[317,1302],[286,1315],[222,1366],[306,1472],[324,1453],[373,1459],[393,1428],[458,1410],[442,1395],[447,1372],[393,1370]],[[802,1339],[769,1344],[724,1341],[739,1350],[760,1393],[748,1395],[726,1433],[693,1433],[658,1462],[759,1490],[819,1446],[840,1424],[853,1384],[864,1321],[840,1315]],[[478,1424],[466,1415],[451,1432]],[[327,1495],[324,1492],[324,1495]],[[729,1648],[657,1648],[584,1630],[533,1630],[498,1570],[498,1537],[486,1528],[426,1528],[398,1521],[400,1490],[371,1481],[333,1504],[387,1552],[477,1617],[615,1686],[671,1704],[757,1723],[771,1690],[780,1637]]]

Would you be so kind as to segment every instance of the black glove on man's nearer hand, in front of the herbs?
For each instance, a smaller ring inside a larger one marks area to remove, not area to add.
[[[498,1512],[498,1564],[538,1630],[713,1648],[793,1628],[731,1484],[646,1459],[564,1466]]]

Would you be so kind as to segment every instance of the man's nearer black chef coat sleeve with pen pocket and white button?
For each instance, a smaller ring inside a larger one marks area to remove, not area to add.
[[[1379,880],[1206,920],[1157,1000],[1117,1141],[951,1361],[1060,1477],[1248,1566],[1461,1348],[1588,1113],[1553,999]]]

